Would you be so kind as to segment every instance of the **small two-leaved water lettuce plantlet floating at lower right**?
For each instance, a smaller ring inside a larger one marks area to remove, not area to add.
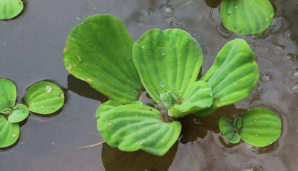
[[[265,147],[279,138],[282,122],[272,111],[254,108],[235,118],[233,125],[230,119],[221,118],[220,131],[230,143],[238,143],[241,138],[249,145]]]

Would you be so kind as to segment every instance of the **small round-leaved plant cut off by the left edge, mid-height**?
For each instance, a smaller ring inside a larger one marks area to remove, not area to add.
[[[47,115],[59,110],[63,103],[63,90],[54,83],[41,81],[26,90],[24,104],[16,105],[16,86],[0,78],[0,148],[18,140],[19,123],[28,118],[29,111]]]

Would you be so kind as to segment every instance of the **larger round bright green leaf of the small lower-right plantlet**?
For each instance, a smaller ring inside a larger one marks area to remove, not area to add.
[[[282,133],[282,121],[266,108],[254,108],[241,116],[240,137],[247,144],[265,147],[275,142]]]

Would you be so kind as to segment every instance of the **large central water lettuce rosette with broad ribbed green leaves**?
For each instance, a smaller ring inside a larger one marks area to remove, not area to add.
[[[259,78],[245,40],[228,42],[197,81],[203,54],[189,33],[152,29],[134,42],[123,22],[111,15],[90,16],[73,28],[63,58],[73,76],[111,98],[96,112],[108,145],[153,155],[164,155],[178,140],[180,118],[209,115],[247,98]],[[143,91],[154,106],[139,99]]]

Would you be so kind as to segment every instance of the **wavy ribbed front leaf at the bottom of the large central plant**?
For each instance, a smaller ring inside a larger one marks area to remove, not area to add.
[[[111,147],[164,155],[178,140],[181,124],[165,123],[159,114],[147,105],[121,105],[101,115],[98,130]]]

